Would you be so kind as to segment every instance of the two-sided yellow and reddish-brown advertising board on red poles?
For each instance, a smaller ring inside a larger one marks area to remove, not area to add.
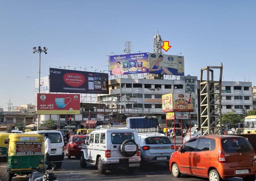
[[[162,95],[163,112],[193,112],[192,95],[189,93],[169,93]]]

